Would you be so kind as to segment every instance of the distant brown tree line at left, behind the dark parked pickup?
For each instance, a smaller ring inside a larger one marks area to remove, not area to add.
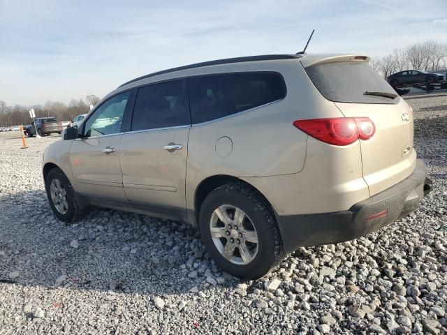
[[[101,99],[90,94],[82,99],[72,99],[68,105],[59,101],[47,101],[45,105],[8,106],[0,101],[0,127],[10,127],[30,124],[29,110],[34,109],[36,117],[55,117],[59,121],[70,121],[79,114],[89,112],[90,105],[96,105]]]

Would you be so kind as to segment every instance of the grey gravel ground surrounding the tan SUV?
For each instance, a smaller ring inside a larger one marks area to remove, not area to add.
[[[356,241],[300,248],[258,281],[210,261],[195,230],[94,208],[57,221],[41,154],[0,134],[0,334],[447,332],[447,95],[407,97],[434,191]]]

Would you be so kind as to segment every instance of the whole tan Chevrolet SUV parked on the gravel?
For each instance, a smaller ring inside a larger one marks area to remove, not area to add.
[[[431,182],[411,108],[368,61],[242,57],[126,82],[45,151],[52,210],[66,222],[90,204],[187,221],[240,278],[377,230]]]

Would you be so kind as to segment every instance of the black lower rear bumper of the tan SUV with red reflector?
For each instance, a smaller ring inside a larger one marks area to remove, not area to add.
[[[432,189],[427,168],[418,160],[413,173],[398,184],[354,204],[347,211],[279,216],[278,224],[287,253],[300,246],[349,241],[379,230],[415,211]]]

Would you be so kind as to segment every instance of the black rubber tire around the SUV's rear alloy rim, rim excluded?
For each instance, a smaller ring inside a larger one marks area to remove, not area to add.
[[[215,209],[229,204],[249,216],[258,234],[258,252],[247,265],[236,265],[221,255],[210,233],[210,220]],[[200,207],[200,235],[211,258],[224,271],[242,279],[257,279],[277,267],[284,258],[279,228],[270,205],[253,188],[237,183],[226,184],[207,195]]]

